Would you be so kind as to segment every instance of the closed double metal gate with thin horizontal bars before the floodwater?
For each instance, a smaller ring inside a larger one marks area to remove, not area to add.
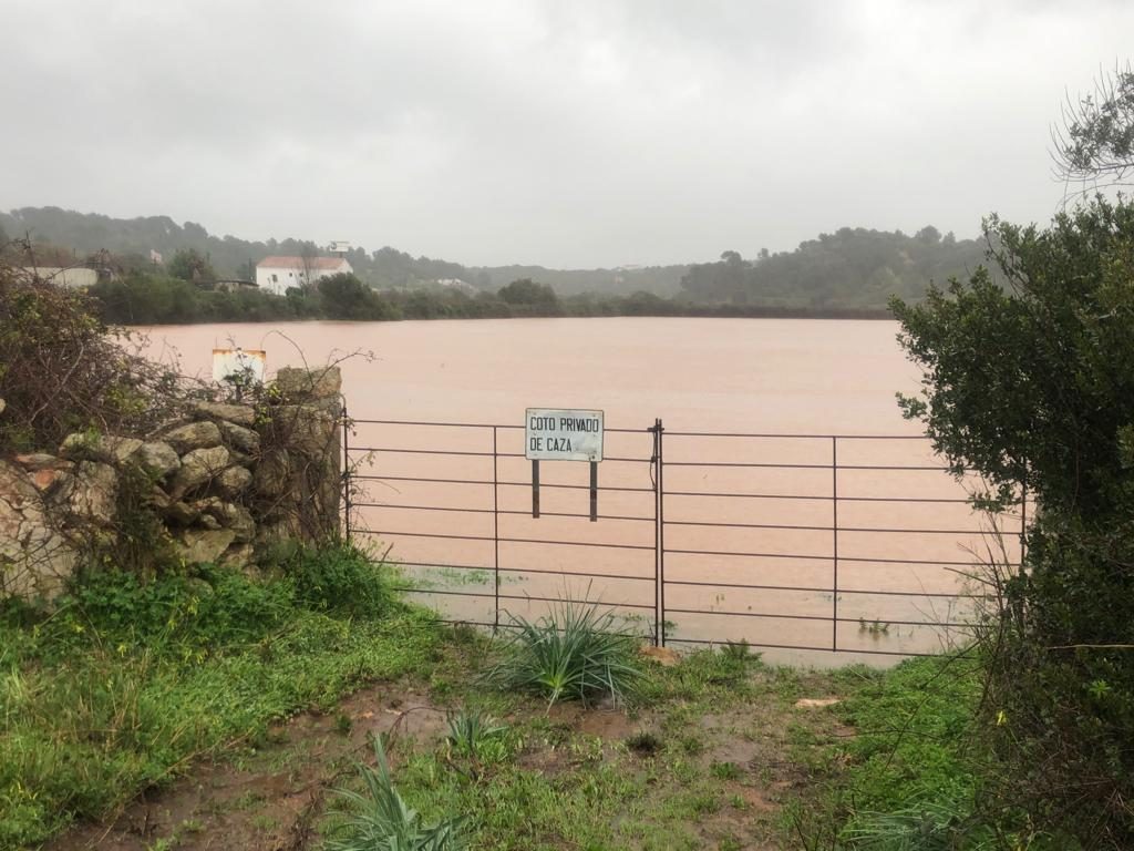
[[[523,427],[348,421],[347,534],[446,621],[600,601],[660,646],[891,657],[964,641],[982,563],[1019,561],[1023,506],[971,511],[975,480],[923,437],[606,435],[591,522],[587,465],[567,462],[544,464],[533,519]]]

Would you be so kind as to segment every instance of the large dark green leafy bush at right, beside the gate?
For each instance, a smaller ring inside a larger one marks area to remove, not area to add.
[[[892,302],[924,369],[902,404],[993,506],[1036,506],[987,646],[1001,801],[1056,846],[1134,848],[1134,205],[985,227],[1007,288]]]

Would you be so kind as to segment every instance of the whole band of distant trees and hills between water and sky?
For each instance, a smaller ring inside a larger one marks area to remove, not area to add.
[[[36,252],[50,264],[88,260],[121,278],[134,293],[134,313],[179,317],[164,321],[215,318],[278,320],[328,315],[318,293],[289,301],[268,295],[205,295],[222,279],[255,278],[255,264],[270,254],[313,256],[310,241],[246,242],[211,236],[194,222],[168,217],[111,219],[58,208],[23,208],[0,213],[0,233],[39,239]],[[60,247],[66,246],[66,247]],[[154,262],[151,251],[162,255]],[[917,303],[931,283],[965,278],[984,261],[983,241],[957,239],[926,226],[902,231],[841,228],[802,243],[794,251],[763,250],[745,259],[726,251],[719,261],[644,269],[552,270],[542,267],[471,268],[445,260],[414,258],[383,247],[345,253],[366,292],[344,303],[352,318],[440,318],[509,315],[857,315],[882,314],[897,296]],[[48,263],[43,263],[48,264]],[[197,285],[177,287],[171,279]],[[166,279],[167,283],[161,281]],[[142,281],[150,281],[143,284]],[[517,281],[539,281],[551,297],[532,301]],[[459,283],[458,283],[459,281]],[[105,287],[122,302],[122,286]],[[141,290],[151,292],[143,294]],[[376,294],[374,294],[376,290]],[[174,293],[179,293],[177,297]],[[335,300],[331,300],[336,303]],[[160,310],[151,303],[162,306]],[[341,306],[341,305],[339,305]],[[153,310],[151,310],[153,307]],[[342,313],[339,307],[335,310]],[[117,321],[117,320],[116,320]],[[152,321],[152,320],[137,320]]]

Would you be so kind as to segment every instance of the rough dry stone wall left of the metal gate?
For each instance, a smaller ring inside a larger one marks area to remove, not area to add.
[[[284,369],[252,402],[194,402],[150,435],[0,457],[0,598],[57,596],[95,554],[112,557],[125,512],[160,529],[174,566],[248,567],[280,541],[337,534],[340,384],[338,368]]]

